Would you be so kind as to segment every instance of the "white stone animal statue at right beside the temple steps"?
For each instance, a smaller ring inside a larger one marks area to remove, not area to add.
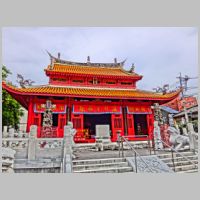
[[[180,150],[184,148],[186,145],[189,145],[189,137],[180,135],[179,131],[174,127],[169,127],[167,131],[170,134],[169,142],[172,144],[172,147],[175,150]]]

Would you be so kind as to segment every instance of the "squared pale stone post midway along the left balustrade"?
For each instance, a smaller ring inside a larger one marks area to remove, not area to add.
[[[37,126],[31,125],[28,141],[28,160],[36,159]]]

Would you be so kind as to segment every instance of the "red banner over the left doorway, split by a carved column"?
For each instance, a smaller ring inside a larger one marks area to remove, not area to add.
[[[36,103],[34,105],[34,112],[43,113],[45,111],[46,104]],[[66,113],[66,105],[63,104],[52,104],[51,108],[53,113]]]

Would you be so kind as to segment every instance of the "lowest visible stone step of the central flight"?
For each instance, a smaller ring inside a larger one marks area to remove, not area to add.
[[[73,172],[74,173],[124,173],[132,171],[133,171],[132,167],[107,167],[102,169],[78,170]]]

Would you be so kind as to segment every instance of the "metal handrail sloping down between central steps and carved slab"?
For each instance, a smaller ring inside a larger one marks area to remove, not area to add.
[[[135,150],[135,148],[130,144],[130,142],[126,139],[126,136],[119,136],[119,157],[120,157],[120,151],[122,147],[122,157],[124,157],[124,146],[123,142],[126,142],[126,144],[131,148],[131,150],[134,152],[134,159],[135,159],[135,172],[138,172],[138,166],[137,166],[137,157],[141,159],[141,161],[146,165],[146,167],[150,170],[150,172],[153,172],[151,167],[144,161],[144,159],[141,157],[141,155]],[[121,143],[121,145],[120,145]]]

